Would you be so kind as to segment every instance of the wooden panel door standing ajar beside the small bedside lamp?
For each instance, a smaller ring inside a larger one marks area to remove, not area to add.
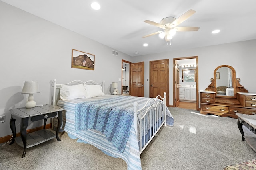
[[[131,96],[144,97],[144,62],[132,63],[131,68]]]

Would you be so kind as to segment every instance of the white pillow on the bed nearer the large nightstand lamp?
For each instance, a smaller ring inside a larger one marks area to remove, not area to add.
[[[68,100],[68,99],[80,99],[86,98],[87,93],[83,84],[78,85],[62,85],[60,88],[60,99]]]

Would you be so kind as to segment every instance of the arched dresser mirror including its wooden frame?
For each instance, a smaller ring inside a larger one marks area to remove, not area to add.
[[[236,71],[232,66],[221,65],[214,70],[216,97],[236,98]]]

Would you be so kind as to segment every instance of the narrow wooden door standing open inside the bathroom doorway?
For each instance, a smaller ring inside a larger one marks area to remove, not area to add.
[[[180,105],[180,65],[179,65],[179,61],[175,60],[175,68],[174,68],[174,74],[175,74],[175,82],[174,82],[174,86],[175,86],[175,107],[178,107]]]

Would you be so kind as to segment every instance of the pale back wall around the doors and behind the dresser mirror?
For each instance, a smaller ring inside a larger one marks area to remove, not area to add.
[[[235,35],[234,35],[235,36]],[[149,45],[150,47],[150,45]],[[169,59],[169,92],[170,105],[173,105],[173,59],[179,57],[198,56],[198,86],[204,90],[214,78],[214,69],[220,65],[230,65],[236,70],[236,78],[249,92],[256,92],[255,73],[256,40],[213,45],[194,49],[142,55],[133,58],[133,62],[144,61],[144,96],[149,96],[149,61]]]

